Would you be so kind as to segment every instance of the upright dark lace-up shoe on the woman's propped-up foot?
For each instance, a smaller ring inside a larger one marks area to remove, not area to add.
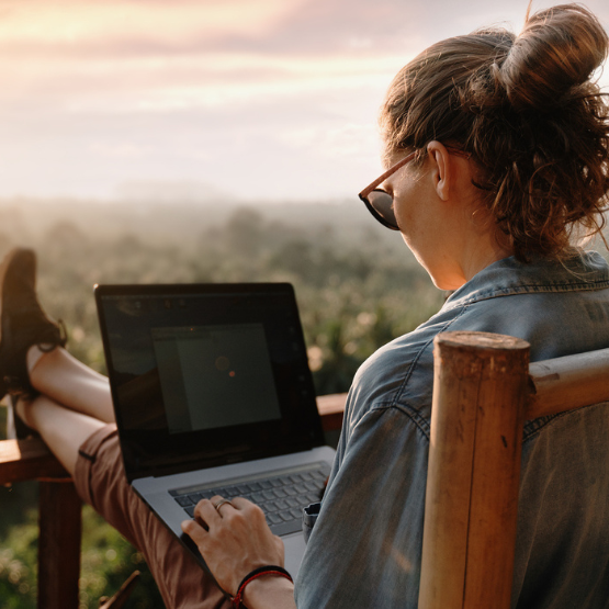
[[[15,248],[0,264],[0,397],[36,396],[26,363],[34,345],[43,351],[64,347],[65,329],[44,313],[36,297],[36,255]]]

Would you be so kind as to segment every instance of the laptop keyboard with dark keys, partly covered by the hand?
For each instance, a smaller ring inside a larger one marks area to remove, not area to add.
[[[319,501],[328,473],[325,463],[315,463],[216,485],[178,488],[169,494],[190,518],[193,518],[194,507],[201,499],[211,499],[215,495],[226,499],[245,497],[262,509],[274,534],[284,535],[302,530],[303,508]]]

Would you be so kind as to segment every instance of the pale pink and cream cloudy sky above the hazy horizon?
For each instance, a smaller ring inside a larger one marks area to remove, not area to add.
[[[381,172],[395,72],[448,36],[519,32],[527,5],[0,0],[0,198],[353,196]],[[609,2],[586,5],[609,29]]]

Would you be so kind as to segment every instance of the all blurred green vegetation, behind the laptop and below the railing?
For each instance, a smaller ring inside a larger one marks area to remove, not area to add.
[[[247,207],[0,201],[0,256],[16,245],[38,253],[41,302],[66,322],[69,350],[101,372],[95,283],[293,283],[318,395],[348,391],[369,354],[427,319],[444,297],[399,234],[354,201]],[[0,488],[2,608],[36,606],[36,493],[35,484]],[[135,568],[143,583],[128,607],[161,608],[143,556],[84,508],[82,608],[97,607]]]

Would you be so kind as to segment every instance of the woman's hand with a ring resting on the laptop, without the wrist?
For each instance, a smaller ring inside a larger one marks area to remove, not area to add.
[[[199,501],[194,520],[182,522],[224,590],[233,596],[241,579],[264,565],[283,566],[283,542],[274,535],[262,510],[243,497],[223,503],[219,496]]]

